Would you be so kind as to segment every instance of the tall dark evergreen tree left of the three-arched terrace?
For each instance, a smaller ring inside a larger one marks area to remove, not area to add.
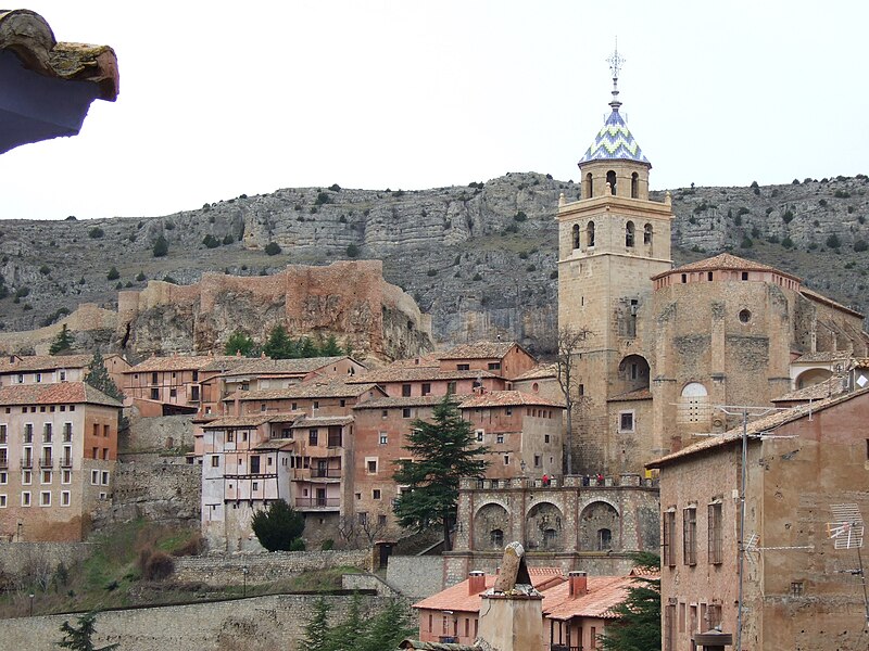
[[[395,502],[395,515],[402,526],[425,528],[443,526],[443,541],[452,549],[450,524],[455,520],[458,501],[458,480],[480,476],[489,465],[482,456],[489,449],[477,445],[468,421],[462,419],[458,407],[444,396],[433,411],[433,423],[415,420],[411,423],[407,445],[412,460],[398,461],[393,478],[408,490]]]

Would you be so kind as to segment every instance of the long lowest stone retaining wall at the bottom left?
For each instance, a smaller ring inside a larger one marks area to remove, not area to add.
[[[343,618],[351,596],[325,596],[332,621]],[[274,595],[189,605],[105,611],[97,615],[96,647],[117,642],[123,651],[298,650],[316,597]],[[386,607],[385,597],[363,597],[365,616]],[[0,621],[4,649],[43,651],[61,640],[61,625],[76,615]]]

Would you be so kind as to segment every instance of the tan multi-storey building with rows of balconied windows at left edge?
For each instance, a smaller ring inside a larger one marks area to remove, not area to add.
[[[121,404],[84,382],[0,387],[0,538],[81,540],[112,494]]]

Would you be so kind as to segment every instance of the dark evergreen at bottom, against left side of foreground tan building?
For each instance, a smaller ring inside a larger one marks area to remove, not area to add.
[[[660,558],[651,552],[633,554],[634,565],[643,570],[660,570]],[[618,620],[606,626],[600,636],[604,651],[660,650],[660,578],[634,577],[625,601],[613,608]]]

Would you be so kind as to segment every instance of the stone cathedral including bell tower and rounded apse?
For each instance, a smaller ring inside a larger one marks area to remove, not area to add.
[[[769,405],[869,342],[862,315],[785,271],[728,253],[673,268],[670,196],[650,199],[652,165],[613,73],[612,112],[579,161],[581,199],[562,196],[557,215],[558,322],[580,334],[574,474],[642,472],[729,429],[722,407]],[[809,374],[794,376],[792,361]]]

